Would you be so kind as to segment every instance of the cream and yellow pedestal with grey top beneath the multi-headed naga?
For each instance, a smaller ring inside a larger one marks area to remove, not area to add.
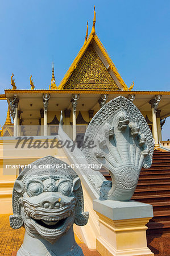
[[[100,235],[96,249],[101,255],[154,255],[147,247],[147,222],[152,205],[136,201],[93,200],[99,217]]]

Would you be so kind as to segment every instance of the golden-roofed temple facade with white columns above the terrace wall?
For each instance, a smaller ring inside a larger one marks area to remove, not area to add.
[[[84,45],[59,85],[56,85],[53,64],[48,89],[36,89],[30,76],[30,90],[18,90],[14,74],[11,76],[13,88],[1,94],[1,100],[7,100],[9,104],[1,137],[56,135],[62,110],[68,135],[75,140],[76,134],[85,133],[94,114],[106,102],[122,95],[143,114],[154,136],[155,147],[159,148],[161,129],[170,115],[170,93],[135,91],[132,90],[134,82],[128,87],[99,40],[95,23],[94,11],[92,31],[88,36],[87,24]],[[165,142],[164,145],[167,146]]]

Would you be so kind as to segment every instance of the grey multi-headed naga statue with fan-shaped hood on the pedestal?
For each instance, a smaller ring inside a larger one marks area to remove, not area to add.
[[[95,147],[88,147],[90,140]],[[111,181],[101,184],[100,197],[128,201],[138,184],[141,168],[151,166],[154,141],[138,108],[119,96],[92,118],[86,130],[83,152],[88,163],[102,164],[111,176]]]

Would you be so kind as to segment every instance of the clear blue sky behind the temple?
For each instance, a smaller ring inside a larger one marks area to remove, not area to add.
[[[12,73],[18,89],[30,89],[30,73],[36,89],[47,89],[52,56],[59,84],[84,43],[87,20],[92,28],[94,5],[97,35],[127,86],[134,80],[134,90],[169,90],[169,0],[1,0],[0,94],[11,88]],[[0,108],[6,115],[5,101]]]

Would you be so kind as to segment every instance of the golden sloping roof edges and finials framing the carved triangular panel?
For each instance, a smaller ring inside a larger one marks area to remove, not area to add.
[[[80,52],[78,52],[78,55],[74,59],[71,67],[68,69],[67,73],[65,74],[63,80],[60,82],[59,90],[65,89],[64,86],[67,84],[69,78],[71,77],[74,70],[77,68],[78,63],[80,63],[80,60],[84,56],[85,52],[88,50],[90,44],[92,44],[93,40],[94,40],[94,42],[96,42],[96,44],[97,44],[99,50],[101,51],[103,57],[106,59],[109,68],[111,69],[111,71],[113,71],[115,77],[118,79],[119,84],[122,86],[122,89],[123,90],[131,90],[132,89],[133,84],[130,86],[130,88],[127,87],[127,85],[123,81],[121,75],[119,74],[117,68],[115,67],[113,61],[111,60],[110,56],[106,52],[106,49],[103,47],[101,41],[99,40],[99,38],[96,34],[96,30],[95,30],[95,23],[96,23],[96,11],[95,11],[95,7],[94,7],[94,19],[93,19],[92,31],[91,31],[88,39],[87,39],[87,32],[86,32],[85,42],[84,42],[82,48],[80,49]],[[88,31],[88,24],[87,24],[87,31]],[[94,89],[96,89],[96,88],[94,88]],[[115,88],[113,88],[113,89],[115,90]],[[119,89],[120,88],[118,88],[118,90]]]

